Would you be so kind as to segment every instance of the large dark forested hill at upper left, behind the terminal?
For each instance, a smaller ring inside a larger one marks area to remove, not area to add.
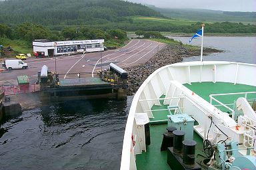
[[[145,5],[119,0],[6,0],[0,1],[0,9],[0,23],[7,25],[95,25],[134,15],[163,17]]]

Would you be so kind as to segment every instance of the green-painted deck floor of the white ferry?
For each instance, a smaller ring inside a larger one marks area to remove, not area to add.
[[[201,83],[192,83],[184,84],[187,88],[209,101],[209,94],[221,94],[221,93],[233,93],[233,92],[253,92],[256,91],[255,86],[246,86],[242,84],[231,84],[231,83],[223,83],[223,82],[201,82]],[[234,95],[234,96],[221,96],[216,97],[221,102],[225,104],[231,103],[233,104],[234,100],[243,95]],[[161,98],[165,98],[165,96],[161,96]],[[249,94],[248,98],[256,98],[255,94]],[[163,100],[160,101],[161,106],[153,106],[151,110],[161,110],[167,109],[168,105],[163,105]],[[213,103],[214,104],[214,103]],[[232,107],[231,107],[232,108]],[[225,111],[225,110],[223,110]],[[167,110],[155,111],[153,112],[153,119],[150,121],[157,120],[167,120],[167,114],[169,112]],[[166,131],[167,122],[163,124],[151,124],[150,125],[150,135],[151,135],[151,145],[147,146],[147,152],[144,152],[140,155],[136,156],[137,169],[143,170],[155,170],[155,169],[170,169],[167,164],[167,151],[160,151],[161,142],[163,140],[163,133]],[[203,153],[203,139],[194,132],[194,140],[197,141],[196,145],[196,155]],[[199,157],[199,159],[202,157]]]

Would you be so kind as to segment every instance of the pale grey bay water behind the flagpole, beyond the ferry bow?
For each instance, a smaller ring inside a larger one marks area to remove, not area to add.
[[[192,44],[201,47],[201,37],[193,39],[189,43],[191,37],[170,37],[183,44]],[[256,37],[203,37],[203,46],[224,50],[224,52],[216,52],[209,55],[203,55],[203,60],[219,60],[233,61],[256,64]],[[192,56],[184,58],[183,61],[197,61],[200,56]]]

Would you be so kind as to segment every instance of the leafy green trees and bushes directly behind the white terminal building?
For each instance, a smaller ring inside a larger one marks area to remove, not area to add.
[[[61,31],[51,31],[47,27],[35,23],[23,23],[15,28],[0,24],[0,37],[7,39],[21,39],[31,42],[35,39],[49,39],[51,41],[65,41],[66,39],[127,39],[127,33],[121,29],[95,29],[90,27],[65,27]]]

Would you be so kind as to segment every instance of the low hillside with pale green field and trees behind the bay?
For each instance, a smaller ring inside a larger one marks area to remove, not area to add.
[[[212,23],[212,22],[195,22],[174,20],[168,18],[157,17],[129,17],[132,23],[108,23],[106,25],[92,25],[98,29],[122,29],[125,31],[161,31],[171,33],[195,33],[201,28],[201,24],[205,24],[205,33],[240,33],[255,34],[256,25],[243,23]]]

